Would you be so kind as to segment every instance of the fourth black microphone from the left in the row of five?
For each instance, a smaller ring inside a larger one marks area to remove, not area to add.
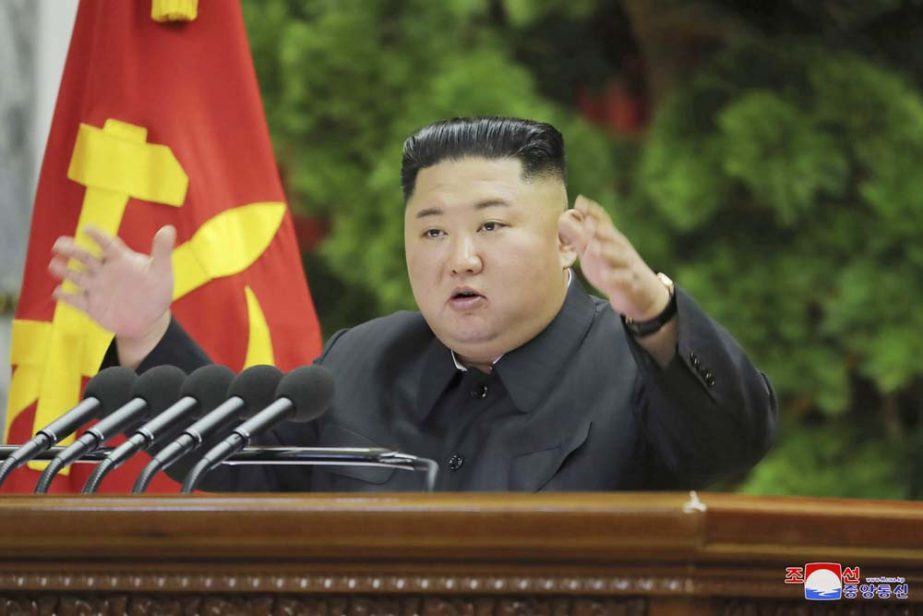
[[[132,487],[132,493],[143,492],[159,471],[169,468],[190,451],[202,446],[205,439],[221,430],[228,423],[246,419],[257,409],[273,399],[273,394],[282,373],[275,366],[252,366],[238,374],[230,387],[225,402],[214,411],[186,428],[172,443],[155,455]]]

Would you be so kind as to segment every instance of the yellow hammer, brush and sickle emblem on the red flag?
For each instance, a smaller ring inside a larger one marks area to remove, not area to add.
[[[87,225],[116,235],[129,198],[182,205],[189,184],[185,171],[168,146],[146,139],[145,128],[118,120],[107,120],[102,129],[80,125],[67,172],[69,179],[86,187],[74,232],[78,245],[97,250],[83,234]],[[265,202],[225,210],[206,221],[173,251],[174,300],[210,280],[250,267],[272,242],[284,215],[284,203]],[[244,292],[250,321],[245,366],[273,363],[269,327],[259,301],[249,287]],[[111,332],[63,302],[55,305],[50,323],[17,319],[12,333],[10,359],[16,369],[4,440],[16,416],[36,400],[35,431],[75,406],[81,377],[96,374],[112,340]]]

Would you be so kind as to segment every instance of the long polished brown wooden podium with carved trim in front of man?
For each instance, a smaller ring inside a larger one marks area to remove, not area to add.
[[[923,504],[727,494],[4,496],[0,614],[921,614]],[[904,578],[808,601],[787,567]]]

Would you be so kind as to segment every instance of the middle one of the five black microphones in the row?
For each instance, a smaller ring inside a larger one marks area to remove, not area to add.
[[[134,454],[149,448],[157,439],[174,434],[178,428],[221,404],[233,378],[234,373],[227,366],[209,364],[196,369],[183,383],[179,391],[181,397],[175,404],[138,428],[96,466],[83,486],[83,493],[96,492],[103,478]]]

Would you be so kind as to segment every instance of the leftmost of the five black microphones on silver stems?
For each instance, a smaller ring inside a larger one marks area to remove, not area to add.
[[[83,401],[35,433],[30,440],[13,451],[0,465],[0,485],[7,476],[52,445],[69,436],[77,428],[97,417],[108,415],[129,400],[132,385],[138,376],[131,368],[106,368],[90,379],[83,392]]]

